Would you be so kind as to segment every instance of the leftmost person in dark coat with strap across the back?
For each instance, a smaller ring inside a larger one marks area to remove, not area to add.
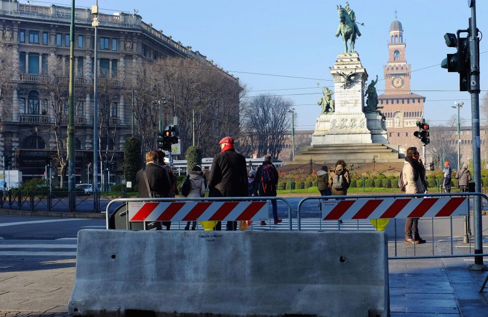
[[[136,186],[142,198],[168,197],[171,183],[168,174],[158,163],[156,152],[146,153],[146,165],[136,174]],[[148,222],[146,225],[148,230],[161,230],[161,222]]]

